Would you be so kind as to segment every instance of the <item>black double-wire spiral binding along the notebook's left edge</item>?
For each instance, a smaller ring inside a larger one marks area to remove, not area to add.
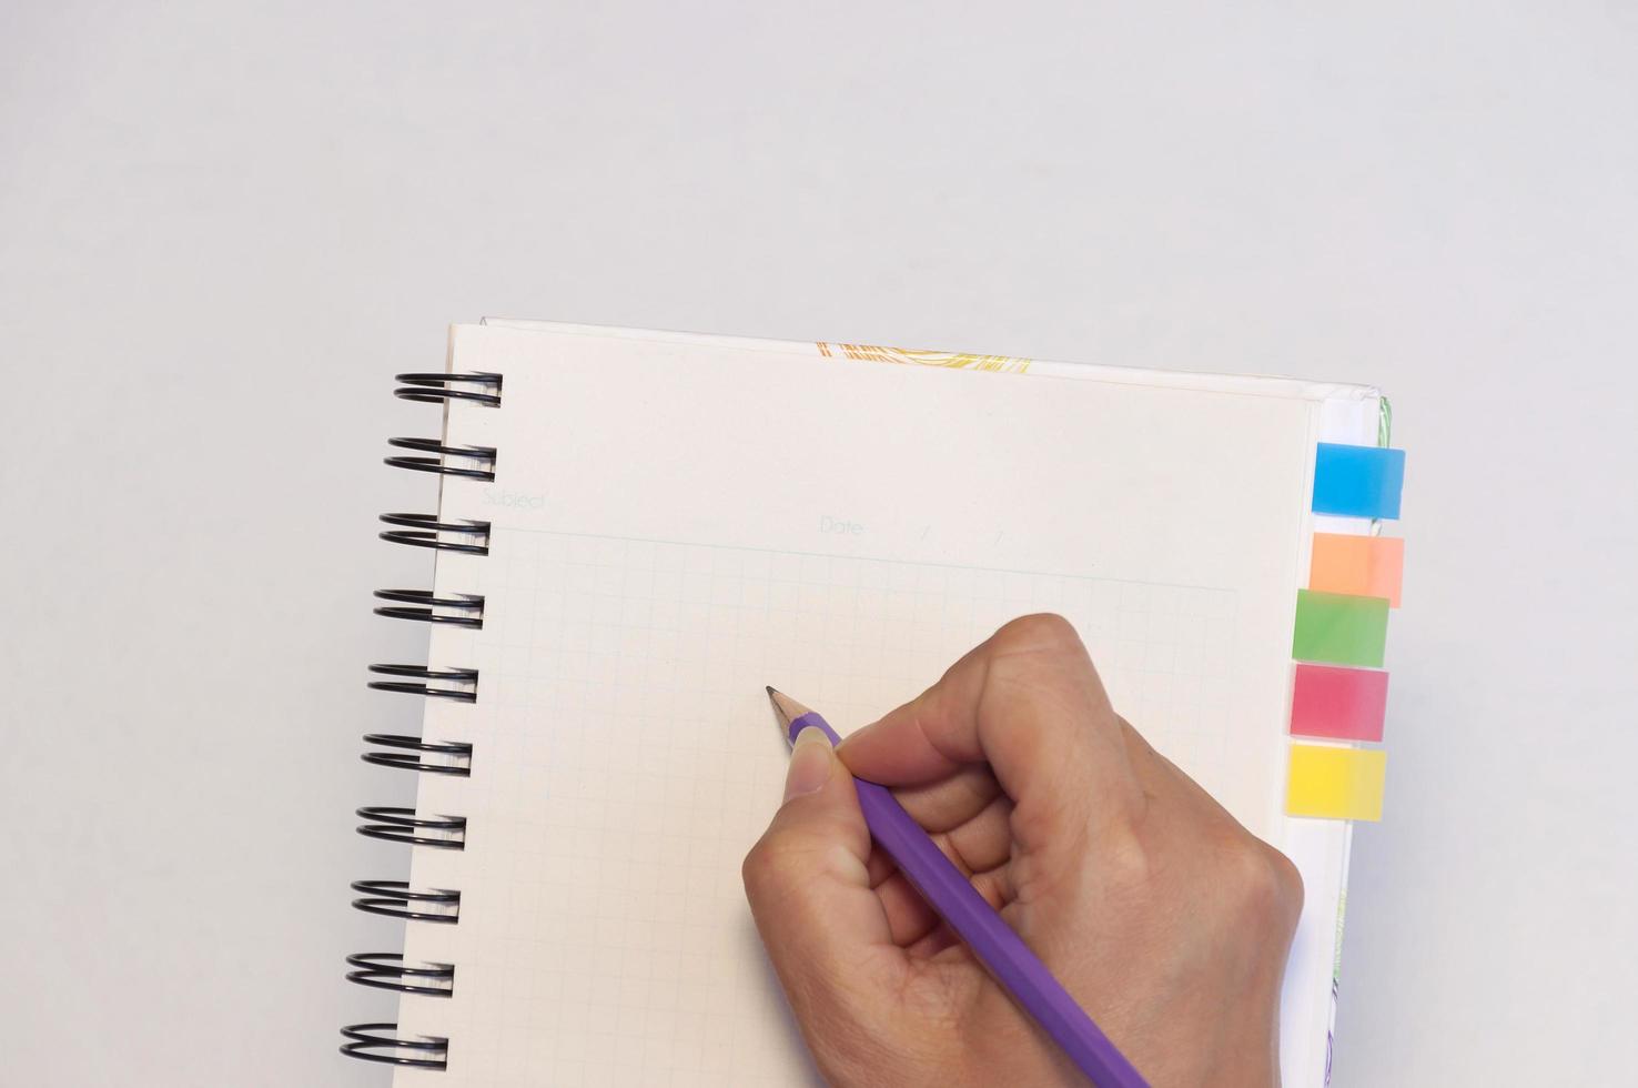
[[[464,400],[486,408],[501,403],[498,374],[400,374],[395,397],[403,400],[449,403]],[[488,446],[447,446],[437,439],[393,437],[388,446],[413,451],[395,454],[387,464],[411,472],[495,480],[496,451]],[[432,551],[488,555],[488,521],[439,521],[437,515],[382,515],[390,528],[380,536],[393,544]],[[410,619],[459,628],[483,626],[483,596],[459,593],[439,596],[431,590],[377,590],[390,601],[375,610],[377,616]],[[477,669],[432,669],[424,665],[370,665],[370,672],[387,680],[372,680],[378,691],[400,691],[424,698],[473,703],[478,698]],[[377,767],[413,770],[424,775],[472,773],[472,746],[464,741],[423,741],[387,732],[365,734],[372,746],[362,755]],[[359,834],[387,842],[403,842],[437,850],[464,850],[467,819],[464,816],[423,816],[413,808],[369,806],[359,809]],[[403,880],[359,880],[352,885],[359,898],[352,906],[367,914],[382,914],[411,923],[437,926],[460,924],[460,891],[450,888],[411,888]],[[398,952],[362,952],[347,957],[347,981],[395,993],[447,998],[455,991],[454,963],[405,963]],[[439,1036],[400,1036],[398,1024],[352,1024],[341,1029],[347,1040],[341,1052],[364,1062],[382,1062],[410,1068],[442,1070],[449,1062],[449,1039]]]

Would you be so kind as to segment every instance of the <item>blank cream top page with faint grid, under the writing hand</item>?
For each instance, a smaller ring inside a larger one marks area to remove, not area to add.
[[[486,608],[434,632],[482,678],[426,721],[473,760],[421,783],[468,831],[414,855],[462,906],[408,927],[455,991],[403,1001],[450,1039],[403,1083],[809,1075],[739,883],[785,770],[763,683],[847,731],[1061,611],[1115,706],[1274,837],[1315,401],[472,326],[454,352],[505,392],[449,410],[500,456],[444,490],[493,529],[437,572]]]

